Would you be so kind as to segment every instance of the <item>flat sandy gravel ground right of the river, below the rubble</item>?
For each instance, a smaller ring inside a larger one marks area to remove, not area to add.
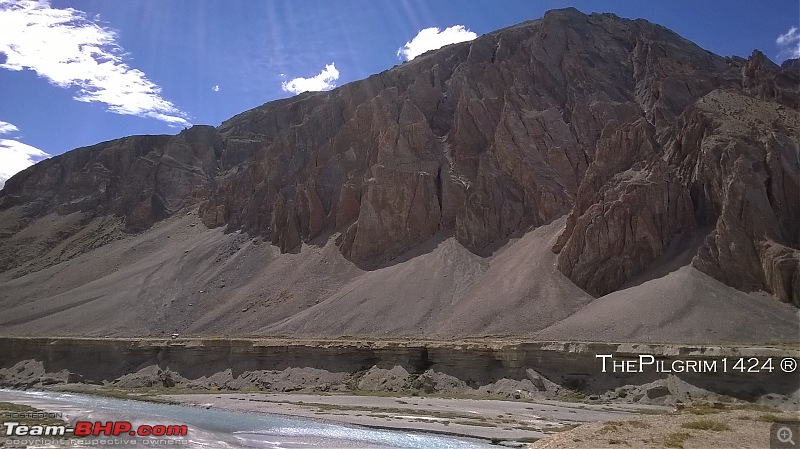
[[[161,400],[347,425],[434,432],[530,449],[768,447],[773,423],[800,425],[797,411],[753,404],[678,408],[560,401],[308,394],[179,394]]]

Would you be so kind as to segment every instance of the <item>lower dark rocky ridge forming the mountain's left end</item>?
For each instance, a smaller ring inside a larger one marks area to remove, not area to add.
[[[78,148],[16,174],[0,191],[0,270],[45,268],[197,204],[220,149],[215,128],[194,126]],[[53,223],[26,235],[37,220]]]

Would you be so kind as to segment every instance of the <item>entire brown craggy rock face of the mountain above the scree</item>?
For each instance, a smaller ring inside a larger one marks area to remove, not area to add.
[[[551,11],[216,129],[37,164],[0,192],[0,266],[21,263],[14,236],[53,212],[113,214],[130,232],[196,205],[206,226],[284,252],[335,237],[362,268],[439,232],[481,254],[569,213],[558,267],[594,295],[710,229],[695,267],[800,305],[796,67]]]

